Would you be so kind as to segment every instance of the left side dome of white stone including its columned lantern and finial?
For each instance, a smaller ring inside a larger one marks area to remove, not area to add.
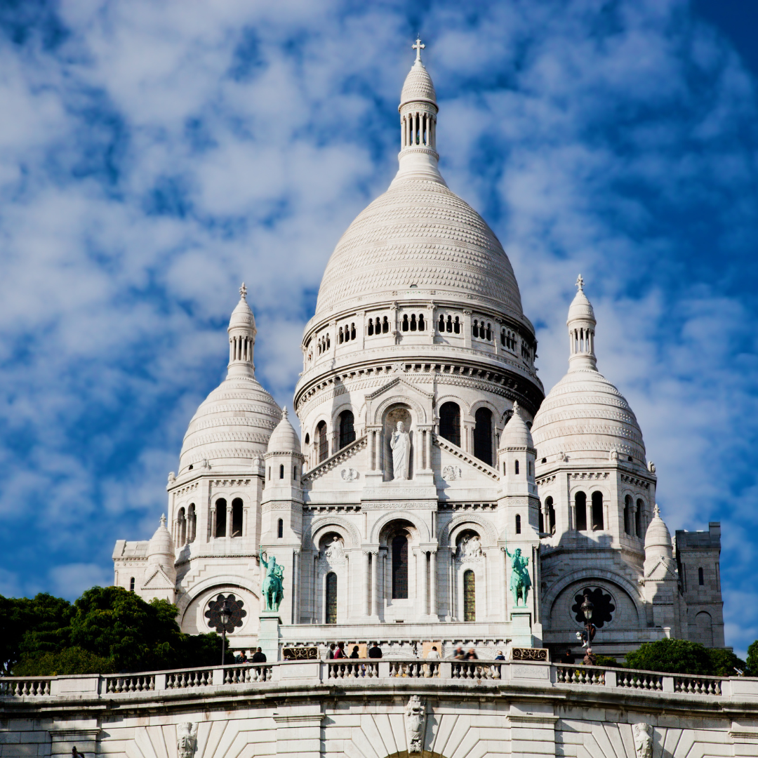
[[[206,464],[220,473],[249,471],[266,452],[282,417],[274,398],[258,384],[253,365],[255,319],[240,287],[229,323],[227,378],[203,400],[184,435],[179,474]]]

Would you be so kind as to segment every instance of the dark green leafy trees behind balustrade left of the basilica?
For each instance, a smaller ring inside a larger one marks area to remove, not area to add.
[[[177,606],[123,587],[92,587],[72,606],[51,595],[0,596],[3,673],[17,676],[218,666],[221,638],[183,634]],[[225,662],[233,656],[225,653]]]

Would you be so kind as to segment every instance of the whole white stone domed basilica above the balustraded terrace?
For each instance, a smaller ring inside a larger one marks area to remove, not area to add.
[[[291,410],[255,378],[243,285],[227,377],[168,476],[168,521],[117,541],[114,583],[269,660],[335,641],[362,656],[377,642],[390,657],[557,657],[581,649],[585,599],[596,653],[663,637],[723,647],[719,524],[672,538],[663,522],[641,428],[598,371],[581,277],[566,373],[545,395],[509,258],[437,167],[422,46],[400,96],[399,169],[327,263]]]

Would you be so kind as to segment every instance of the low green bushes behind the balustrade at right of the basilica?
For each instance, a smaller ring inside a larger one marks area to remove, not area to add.
[[[634,650],[625,656],[625,666],[630,669],[668,674],[735,676],[734,667],[744,669],[744,665],[744,661],[731,650],[709,649],[697,642],[687,640],[666,639],[645,642],[639,650]]]

